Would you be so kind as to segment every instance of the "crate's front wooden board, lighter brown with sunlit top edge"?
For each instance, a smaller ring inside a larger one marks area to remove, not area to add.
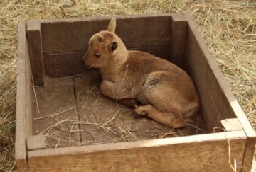
[[[231,164],[236,159],[237,171],[240,171],[245,139],[243,131],[236,131],[84,146],[80,149],[29,151],[29,170],[232,171],[228,163],[229,147]]]

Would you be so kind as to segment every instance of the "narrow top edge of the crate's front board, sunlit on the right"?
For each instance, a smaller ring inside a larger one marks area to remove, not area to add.
[[[218,132],[210,134],[198,134],[193,136],[184,137],[171,137],[165,139],[151,139],[134,142],[118,142],[118,143],[107,143],[107,144],[95,144],[79,147],[64,147],[46,150],[29,151],[28,157],[33,156],[56,156],[64,154],[83,154],[92,153],[96,151],[108,151],[108,150],[119,150],[119,149],[134,149],[140,147],[161,147],[168,144],[181,144],[181,143],[192,143],[192,142],[204,142],[204,141],[215,141],[225,139],[246,139],[245,132],[230,131],[230,132]]]

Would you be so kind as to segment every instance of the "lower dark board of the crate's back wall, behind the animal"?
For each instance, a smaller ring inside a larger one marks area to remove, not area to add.
[[[165,59],[167,59],[169,56],[169,50],[167,46],[132,48],[130,50],[141,50],[144,52],[149,52],[152,55],[163,57]],[[85,73],[87,69],[85,69],[85,65],[81,63],[83,55],[85,55],[85,52],[44,54],[43,62],[45,65],[44,70],[46,76],[61,77]]]

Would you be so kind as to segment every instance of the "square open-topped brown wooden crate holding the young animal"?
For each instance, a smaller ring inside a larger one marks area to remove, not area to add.
[[[106,30],[110,19],[107,16],[18,23],[18,171],[250,171],[255,132],[188,13],[117,16],[117,35],[129,50],[150,52],[186,70],[201,100],[199,115],[206,132],[139,141],[117,139],[112,143],[97,143],[100,135],[95,144],[83,140],[85,132],[89,132],[90,119],[79,115],[78,101],[83,98],[82,106],[91,103],[94,107],[102,99],[85,102],[82,93],[93,91],[81,88],[94,82],[90,78],[95,71],[87,73],[80,59],[89,38]],[[82,77],[85,78],[79,81]],[[82,107],[85,109],[81,113],[92,110],[93,115],[99,107],[105,107],[105,112],[117,108],[112,106],[112,100],[101,103],[95,108]],[[58,108],[63,109],[60,112]],[[93,125],[106,127],[110,120]],[[150,120],[144,125],[147,123]],[[85,137],[89,138],[88,133]]]

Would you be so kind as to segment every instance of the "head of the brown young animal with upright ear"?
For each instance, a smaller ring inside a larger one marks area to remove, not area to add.
[[[101,68],[110,62],[112,55],[117,51],[120,39],[114,34],[116,19],[112,18],[107,30],[100,31],[89,40],[89,47],[82,63],[87,67]]]

